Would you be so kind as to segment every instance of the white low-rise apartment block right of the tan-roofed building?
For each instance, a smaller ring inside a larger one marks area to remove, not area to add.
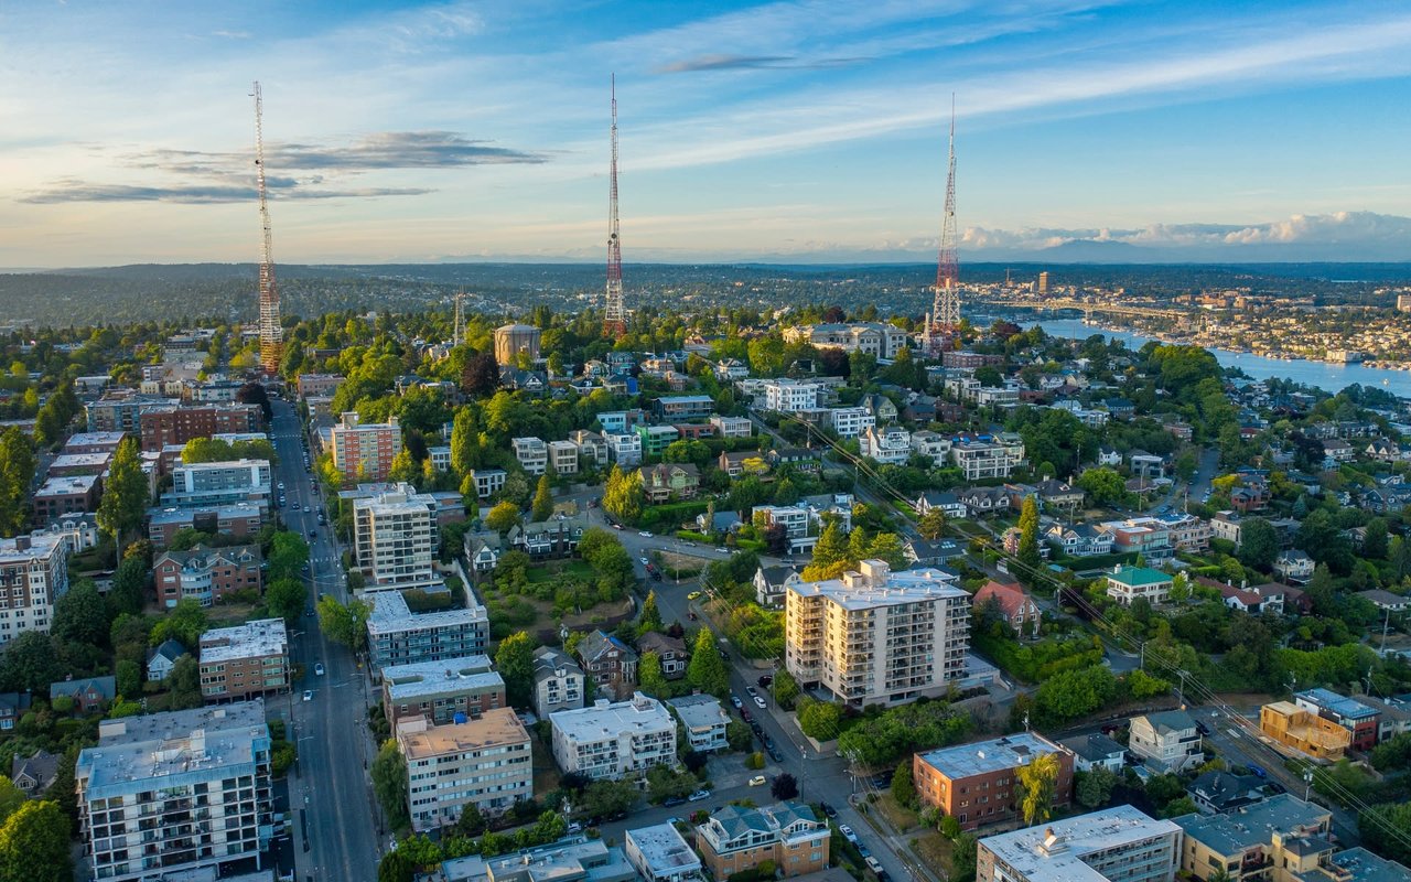
[[[676,762],[676,720],[642,693],[615,704],[598,699],[593,707],[560,710],[549,723],[553,758],[564,773],[639,778],[652,766]]]

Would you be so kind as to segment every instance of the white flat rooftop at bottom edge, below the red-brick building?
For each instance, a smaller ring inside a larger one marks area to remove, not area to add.
[[[1088,855],[1156,837],[1178,838],[1180,833],[1171,821],[1150,818],[1132,806],[1113,806],[986,837],[979,844],[1029,882],[1108,882],[1088,865]]]

